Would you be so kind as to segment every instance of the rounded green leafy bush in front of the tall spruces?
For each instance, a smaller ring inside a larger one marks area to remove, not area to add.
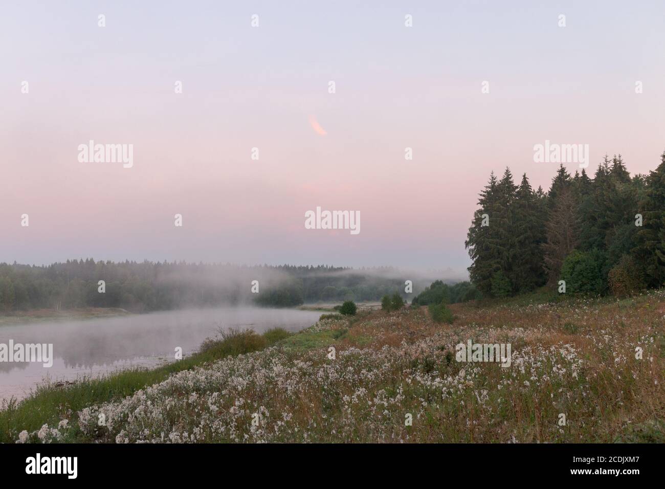
[[[602,294],[607,284],[602,275],[604,254],[599,249],[572,251],[561,266],[566,293]]]

